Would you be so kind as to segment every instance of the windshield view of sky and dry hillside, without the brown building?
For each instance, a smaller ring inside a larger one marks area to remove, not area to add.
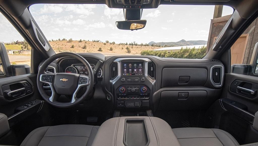
[[[139,30],[120,30],[123,9],[94,4],[34,4],[29,10],[56,53],[93,52],[104,55],[154,55],[202,58],[215,6],[160,5],[143,9]],[[222,16],[233,9],[223,6]],[[212,36],[211,42],[214,37]]]

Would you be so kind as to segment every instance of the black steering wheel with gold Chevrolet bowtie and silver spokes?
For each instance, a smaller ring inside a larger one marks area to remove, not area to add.
[[[82,62],[87,70],[88,76],[75,74],[75,73],[46,73],[46,68],[51,62],[60,57],[72,57]],[[94,75],[91,65],[82,56],[70,53],[62,52],[49,57],[42,66],[39,68],[37,76],[38,91],[42,98],[49,104],[55,107],[68,108],[75,106],[82,102],[89,95],[93,89]],[[43,89],[43,84],[49,84],[52,95],[49,97]],[[86,87],[85,93],[81,97],[77,97],[77,93],[82,87]],[[70,102],[59,102],[57,98],[59,95],[70,95],[72,99]]]

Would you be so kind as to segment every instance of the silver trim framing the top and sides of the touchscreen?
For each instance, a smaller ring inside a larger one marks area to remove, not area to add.
[[[149,58],[133,58],[133,57],[130,57],[130,58],[117,58],[114,60],[114,62],[117,62],[118,63],[118,75],[117,77],[114,79],[114,80],[109,80],[109,82],[114,85],[115,82],[117,82],[121,76],[122,76],[122,73],[121,73],[121,62],[124,61],[124,60],[142,60],[144,61],[144,76],[147,80],[149,80],[152,85],[154,85],[154,83],[156,82],[156,80],[152,80],[149,76],[148,76],[148,62],[152,62]]]

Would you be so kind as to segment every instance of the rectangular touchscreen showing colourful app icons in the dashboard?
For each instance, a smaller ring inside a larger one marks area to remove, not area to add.
[[[122,62],[122,75],[143,75],[143,62]]]

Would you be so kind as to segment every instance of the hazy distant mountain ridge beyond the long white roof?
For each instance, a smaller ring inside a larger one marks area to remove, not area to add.
[[[203,41],[203,40],[198,40],[198,41],[186,41],[186,40],[180,40],[178,42],[159,42],[159,43],[155,43],[155,42],[149,42],[149,45],[154,45],[154,46],[165,46],[167,45],[168,47],[176,47],[176,46],[188,46],[188,45],[204,45],[207,44],[207,41]]]

